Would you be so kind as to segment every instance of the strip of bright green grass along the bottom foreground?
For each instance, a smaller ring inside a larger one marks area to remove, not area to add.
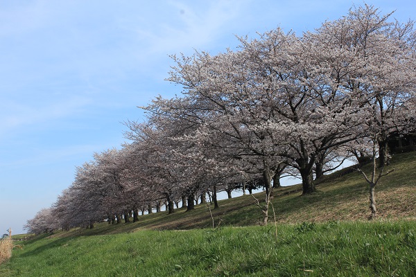
[[[416,222],[36,238],[0,276],[414,276]]]

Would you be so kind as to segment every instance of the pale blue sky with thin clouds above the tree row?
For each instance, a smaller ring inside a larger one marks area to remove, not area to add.
[[[137,106],[181,88],[168,55],[218,53],[280,26],[296,33],[363,1],[0,0],[0,235],[71,185],[75,167],[125,141]],[[415,1],[368,1],[399,21]]]

